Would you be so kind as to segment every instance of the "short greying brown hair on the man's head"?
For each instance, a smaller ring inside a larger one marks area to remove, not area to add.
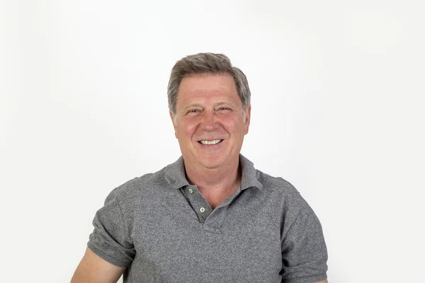
[[[245,74],[239,68],[233,67],[229,57],[225,54],[198,53],[180,59],[171,69],[167,94],[169,110],[173,115],[176,115],[181,81],[188,76],[197,74],[229,74],[232,76],[245,114],[246,106],[251,105],[251,91],[249,91]]]

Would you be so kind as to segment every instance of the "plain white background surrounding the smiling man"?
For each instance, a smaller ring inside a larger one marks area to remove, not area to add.
[[[1,282],[69,282],[108,192],[179,157],[166,85],[222,52],[242,154],[322,221],[329,282],[424,282],[422,1],[1,1]]]

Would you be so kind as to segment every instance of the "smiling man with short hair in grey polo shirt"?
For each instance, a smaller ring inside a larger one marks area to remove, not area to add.
[[[327,282],[322,228],[288,182],[240,155],[246,77],[223,54],[181,59],[169,110],[181,158],[115,188],[74,282]]]

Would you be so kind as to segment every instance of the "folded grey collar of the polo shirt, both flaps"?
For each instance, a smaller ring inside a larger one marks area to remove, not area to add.
[[[263,185],[261,185],[259,180],[256,178],[254,163],[249,161],[248,158],[242,154],[239,154],[239,162],[242,166],[241,190],[245,190],[249,187],[258,187],[261,190]],[[165,178],[171,187],[174,187],[175,189],[179,189],[185,185],[190,185],[186,179],[183,156],[180,156],[176,162],[166,166]]]

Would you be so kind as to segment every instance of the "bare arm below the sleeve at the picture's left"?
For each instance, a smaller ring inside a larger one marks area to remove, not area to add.
[[[124,267],[112,265],[86,248],[86,253],[75,270],[71,283],[116,283],[124,270]]]

